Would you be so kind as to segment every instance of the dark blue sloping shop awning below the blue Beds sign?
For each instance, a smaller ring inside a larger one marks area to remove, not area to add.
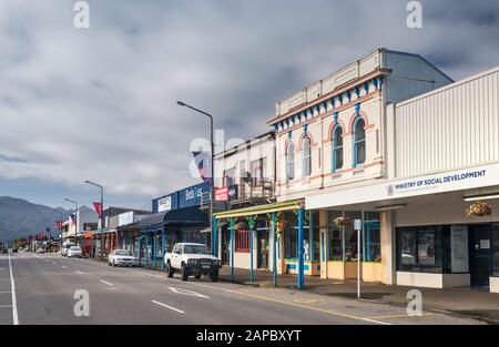
[[[140,228],[157,227],[161,225],[203,225],[208,224],[207,214],[198,207],[187,207],[165,211],[146,216],[139,222]]]

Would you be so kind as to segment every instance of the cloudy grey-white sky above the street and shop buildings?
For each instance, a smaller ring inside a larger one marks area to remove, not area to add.
[[[499,1],[0,1],[0,196],[52,207],[63,197],[140,208],[201,182],[191,151],[221,151],[269,129],[275,103],[388,48],[419,53],[452,79],[499,65]]]

